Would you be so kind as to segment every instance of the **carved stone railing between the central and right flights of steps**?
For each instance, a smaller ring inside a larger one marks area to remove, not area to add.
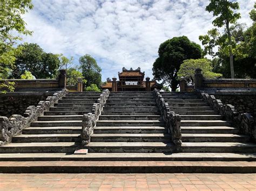
[[[165,124],[167,126],[168,132],[172,136],[172,142],[180,146],[182,144],[181,141],[181,128],[180,128],[180,122],[181,117],[178,114],[175,114],[173,111],[170,110],[170,107],[168,103],[165,103],[164,98],[161,96],[159,91],[157,89],[154,89],[153,91],[154,99],[157,102],[158,108],[161,112],[161,116],[163,116],[163,119],[165,121]]]

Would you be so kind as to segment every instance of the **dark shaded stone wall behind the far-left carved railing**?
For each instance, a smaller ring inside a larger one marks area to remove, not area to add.
[[[22,115],[30,105],[37,105],[52,96],[54,91],[48,92],[14,92],[0,95],[0,116],[10,117],[13,114]]]

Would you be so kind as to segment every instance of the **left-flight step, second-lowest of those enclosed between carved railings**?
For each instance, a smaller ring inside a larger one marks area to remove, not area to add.
[[[82,126],[42,126],[42,127],[30,127],[22,130],[24,135],[32,134],[78,134],[82,132]]]

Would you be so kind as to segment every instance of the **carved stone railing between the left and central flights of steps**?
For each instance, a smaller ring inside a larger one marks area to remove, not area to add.
[[[83,116],[81,133],[83,145],[90,143],[93,130],[96,126],[96,121],[98,120],[98,117],[102,112],[103,106],[105,105],[107,97],[109,97],[109,94],[110,91],[108,89],[103,90],[103,93],[100,94],[97,103],[94,103],[92,106],[92,113],[85,114]]]

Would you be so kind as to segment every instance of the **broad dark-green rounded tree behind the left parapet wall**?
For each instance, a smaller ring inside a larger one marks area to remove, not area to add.
[[[15,61],[16,68],[12,73],[14,77],[19,78],[25,70],[31,71],[37,79],[56,76],[60,64],[57,54],[45,53],[39,45],[32,43],[24,43],[18,47],[22,48],[22,52]]]

